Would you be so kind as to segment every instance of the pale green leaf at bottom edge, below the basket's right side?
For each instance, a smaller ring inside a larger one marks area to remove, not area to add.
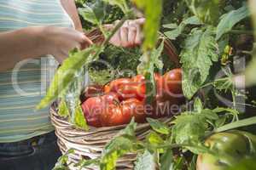
[[[155,170],[157,166],[154,157],[154,154],[145,150],[143,155],[137,156],[134,170]]]

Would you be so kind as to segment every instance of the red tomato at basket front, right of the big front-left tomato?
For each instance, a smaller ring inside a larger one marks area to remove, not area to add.
[[[120,105],[121,110],[123,112],[123,116],[130,116],[129,122],[131,122],[131,118],[133,116],[135,118],[135,122],[142,123],[146,121],[146,114],[144,111],[143,101],[140,101],[138,99],[127,99],[123,101]]]

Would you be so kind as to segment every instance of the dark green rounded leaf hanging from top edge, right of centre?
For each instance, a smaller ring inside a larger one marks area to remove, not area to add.
[[[219,16],[219,0],[185,0],[190,10],[203,23],[216,24]]]

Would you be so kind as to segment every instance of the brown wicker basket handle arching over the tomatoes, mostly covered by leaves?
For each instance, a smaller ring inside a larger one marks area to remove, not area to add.
[[[104,36],[102,35],[102,31],[100,31],[97,28],[93,29],[92,31],[86,32],[85,36],[90,38],[90,40],[94,43],[100,44],[104,41]],[[165,50],[165,53],[168,54],[172,62],[175,63],[176,67],[180,68],[177,49],[174,47],[172,42],[167,38],[165,38],[164,50]]]

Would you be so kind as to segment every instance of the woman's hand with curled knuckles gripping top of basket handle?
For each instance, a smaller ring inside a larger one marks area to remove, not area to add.
[[[116,22],[116,24],[119,21]],[[140,45],[142,42],[142,31],[145,19],[126,20],[124,25],[121,26],[119,31],[111,38],[110,43],[115,46],[121,46],[125,48],[134,47]]]

